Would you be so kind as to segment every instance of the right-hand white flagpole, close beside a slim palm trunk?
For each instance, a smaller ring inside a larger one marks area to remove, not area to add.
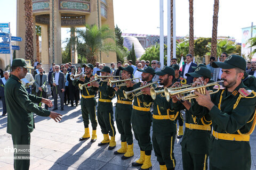
[[[171,0],[167,1],[167,65],[171,65]]]

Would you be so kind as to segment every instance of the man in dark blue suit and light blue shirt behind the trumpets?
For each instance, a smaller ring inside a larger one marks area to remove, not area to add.
[[[192,67],[193,66],[196,67],[197,64],[192,62],[193,57],[192,57],[191,54],[186,55],[186,61],[187,61],[187,63],[182,65],[181,76],[183,78],[187,79],[187,83],[189,84],[189,83],[193,83],[193,77],[188,77],[187,78],[186,74],[194,72],[195,70]]]

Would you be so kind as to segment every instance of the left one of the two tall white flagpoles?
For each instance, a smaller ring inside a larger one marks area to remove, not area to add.
[[[164,66],[164,1],[160,0],[160,63]]]

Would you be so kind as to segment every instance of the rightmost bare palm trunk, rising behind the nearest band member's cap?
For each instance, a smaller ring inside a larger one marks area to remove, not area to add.
[[[212,22],[211,56],[217,57],[217,27],[218,27],[219,0],[214,0],[213,10],[214,11],[213,11],[213,22]]]

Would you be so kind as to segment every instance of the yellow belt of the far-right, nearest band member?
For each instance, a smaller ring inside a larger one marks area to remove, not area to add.
[[[230,134],[230,133],[218,133],[212,130],[212,135],[215,139],[231,140],[231,141],[249,141],[250,135]]]

